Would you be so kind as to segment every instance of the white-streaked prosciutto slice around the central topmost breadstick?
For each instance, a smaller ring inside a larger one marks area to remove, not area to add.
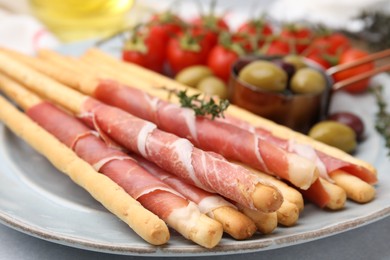
[[[93,98],[84,103],[83,114],[89,115],[84,118],[86,122],[94,122],[114,141],[164,170],[206,191],[256,208],[251,194],[261,180],[246,168],[231,164],[216,153],[195,148],[187,139],[161,131],[149,121]]]

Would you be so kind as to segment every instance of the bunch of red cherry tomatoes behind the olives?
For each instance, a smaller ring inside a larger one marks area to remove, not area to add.
[[[190,66],[206,65],[225,82],[232,64],[244,55],[296,54],[317,62],[324,69],[368,55],[352,47],[341,33],[297,23],[276,28],[264,17],[247,20],[233,31],[222,16],[199,15],[185,21],[166,11],[136,26],[130,35],[122,50],[125,61],[169,76]],[[373,66],[367,63],[345,70],[335,74],[334,80],[341,81]],[[357,82],[345,90],[364,92],[368,82]]]

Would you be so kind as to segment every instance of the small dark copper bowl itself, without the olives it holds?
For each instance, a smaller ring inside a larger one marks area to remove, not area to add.
[[[280,56],[251,56],[242,57],[235,62],[228,84],[229,101],[278,124],[307,133],[311,126],[323,120],[328,114],[333,80],[319,65],[305,60],[308,66],[320,71],[326,78],[327,87],[319,94],[270,92],[243,82],[238,77],[240,70],[252,61],[281,59]]]

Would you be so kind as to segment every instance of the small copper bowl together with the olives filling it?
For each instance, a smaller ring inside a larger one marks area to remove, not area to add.
[[[307,133],[326,118],[332,79],[300,57],[242,57],[232,66],[229,101],[264,118]]]

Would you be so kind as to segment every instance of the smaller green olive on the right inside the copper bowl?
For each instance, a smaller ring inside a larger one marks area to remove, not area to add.
[[[296,94],[317,94],[326,88],[325,76],[313,68],[299,69],[292,76],[290,88]]]

